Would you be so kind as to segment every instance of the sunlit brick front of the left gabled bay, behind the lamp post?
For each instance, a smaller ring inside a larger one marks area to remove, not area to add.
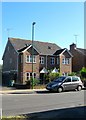
[[[25,51],[22,55],[22,58],[23,58],[23,62],[21,63],[21,66],[20,67],[20,79],[21,79],[21,82],[22,83],[26,83],[25,81],[27,81],[26,79],[26,73],[29,72],[29,73],[32,73],[32,63],[27,63],[26,62],[26,56],[27,55],[31,55],[31,50],[29,51]],[[36,73],[36,77],[39,78],[39,54],[34,51],[34,54],[36,56],[36,63],[33,63],[33,72]]]

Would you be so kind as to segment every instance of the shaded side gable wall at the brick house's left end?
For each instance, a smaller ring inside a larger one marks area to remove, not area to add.
[[[3,72],[10,71],[10,70],[17,70],[17,56],[18,56],[18,53],[15,51],[12,44],[8,40],[8,43],[6,45],[6,49],[3,55]]]

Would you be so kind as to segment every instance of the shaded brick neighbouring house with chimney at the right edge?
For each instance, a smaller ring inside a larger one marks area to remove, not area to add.
[[[82,67],[86,67],[86,49],[77,48],[76,44],[70,45],[70,52],[73,55],[72,58],[72,71],[78,72]]]

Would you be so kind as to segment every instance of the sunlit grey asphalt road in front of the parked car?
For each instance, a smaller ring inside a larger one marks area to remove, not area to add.
[[[3,116],[83,106],[85,92],[82,90],[62,93],[43,91],[34,94],[3,94]]]

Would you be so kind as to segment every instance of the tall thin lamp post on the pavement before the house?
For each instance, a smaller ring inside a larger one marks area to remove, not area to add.
[[[32,23],[32,89],[34,88],[34,71],[33,71],[33,57],[34,57],[34,48],[33,48],[33,41],[34,41],[34,25],[36,22]]]

